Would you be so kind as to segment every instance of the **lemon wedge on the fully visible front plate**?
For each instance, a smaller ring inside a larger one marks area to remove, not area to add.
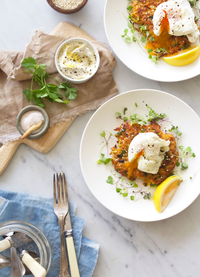
[[[160,183],[154,193],[153,202],[156,210],[162,212],[182,181],[179,176],[170,176]]]

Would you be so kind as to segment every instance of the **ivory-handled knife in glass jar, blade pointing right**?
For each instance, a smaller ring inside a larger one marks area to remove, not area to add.
[[[32,238],[20,232],[9,237],[12,239],[15,248],[32,241]],[[9,237],[6,237],[4,240],[0,241],[0,252],[6,250],[7,248],[10,248],[11,244],[9,241]]]

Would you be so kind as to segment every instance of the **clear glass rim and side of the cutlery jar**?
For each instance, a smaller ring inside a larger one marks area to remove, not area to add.
[[[40,265],[48,272],[52,261],[52,252],[51,245],[44,233],[35,225],[21,220],[6,221],[0,224],[0,236],[9,232],[21,232],[32,238],[38,248],[36,252],[39,252]],[[27,249],[25,248],[25,250]]]

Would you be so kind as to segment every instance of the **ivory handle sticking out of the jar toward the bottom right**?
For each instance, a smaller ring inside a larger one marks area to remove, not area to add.
[[[22,261],[30,269],[35,277],[45,277],[46,270],[37,261],[34,260],[28,253],[23,254]]]

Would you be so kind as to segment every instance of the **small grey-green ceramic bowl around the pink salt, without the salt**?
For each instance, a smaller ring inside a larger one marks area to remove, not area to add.
[[[39,112],[41,112],[44,116],[44,122],[43,122],[42,129],[38,129],[39,131],[36,132],[35,134],[28,135],[26,137],[26,139],[40,139],[48,131],[50,120],[49,120],[49,116],[48,116],[47,112],[39,106],[27,106],[19,112],[19,114],[17,115],[16,120],[15,120],[17,130],[19,131],[20,135],[23,135],[25,133],[25,131],[22,129],[22,127],[20,125],[20,120],[21,120],[22,116],[26,112],[29,112],[29,111],[39,111]]]

